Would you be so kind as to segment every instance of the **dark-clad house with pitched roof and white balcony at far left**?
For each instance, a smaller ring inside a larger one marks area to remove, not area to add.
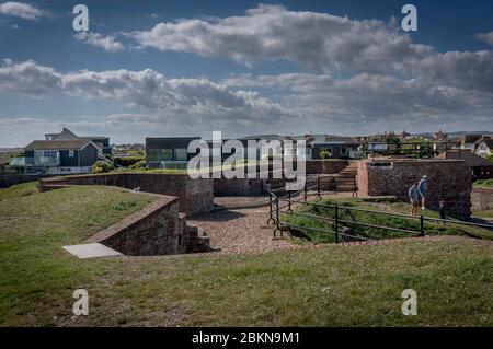
[[[87,139],[35,140],[24,148],[24,156],[10,160],[10,167],[20,173],[90,173],[98,154],[98,147]]]

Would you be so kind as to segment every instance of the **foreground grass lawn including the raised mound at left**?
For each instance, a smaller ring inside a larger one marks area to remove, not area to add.
[[[0,190],[0,325],[493,325],[493,251],[474,241],[140,261],[60,248],[150,200],[98,187]],[[87,317],[71,313],[78,288]],[[408,288],[417,316],[401,313]]]

